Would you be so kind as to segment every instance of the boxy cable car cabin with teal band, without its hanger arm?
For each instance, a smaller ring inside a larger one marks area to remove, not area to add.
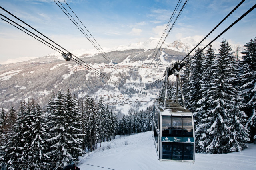
[[[193,114],[175,102],[167,102],[165,108],[154,103],[152,136],[158,160],[194,163]]]

